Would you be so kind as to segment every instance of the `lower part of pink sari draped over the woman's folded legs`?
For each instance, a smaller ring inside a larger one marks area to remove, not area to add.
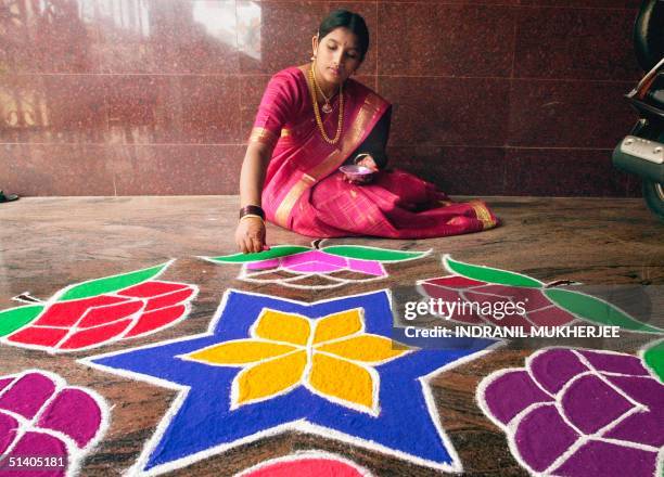
[[[309,236],[427,238],[478,232],[498,219],[481,201],[452,203],[430,182],[400,170],[356,185],[335,172],[303,197],[293,230]]]

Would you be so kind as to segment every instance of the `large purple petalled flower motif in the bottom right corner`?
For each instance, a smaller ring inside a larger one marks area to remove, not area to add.
[[[652,477],[664,464],[664,385],[631,354],[541,350],[477,399],[532,473]]]

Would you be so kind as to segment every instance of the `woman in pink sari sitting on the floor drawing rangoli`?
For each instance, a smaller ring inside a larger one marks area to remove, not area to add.
[[[274,75],[258,108],[240,175],[242,252],[267,248],[265,218],[316,237],[424,238],[498,223],[478,201],[452,204],[431,183],[384,170],[390,103],[349,78],[369,48],[360,15],[332,12],[311,42],[311,63]],[[339,167],[353,162],[374,180],[345,180]]]

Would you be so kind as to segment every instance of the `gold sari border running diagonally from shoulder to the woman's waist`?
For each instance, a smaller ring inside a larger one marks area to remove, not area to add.
[[[329,176],[336,169],[345,159],[359,146],[360,139],[369,124],[380,111],[383,99],[378,94],[369,93],[365,99],[365,104],[360,108],[357,117],[348,131],[342,136],[339,149],[334,150],[321,163],[316,165],[311,170],[305,173],[291,188],[289,193],[283,197],[281,204],[274,214],[274,221],[284,228],[289,228],[288,221],[291,210],[307,189],[314,186],[319,180]]]

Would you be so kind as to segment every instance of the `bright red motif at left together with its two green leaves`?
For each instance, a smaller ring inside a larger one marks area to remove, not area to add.
[[[49,352],[145,336],[183,320],[197,287],[155,280],[171,263],[71,285],[0,311],[0,341]]]

